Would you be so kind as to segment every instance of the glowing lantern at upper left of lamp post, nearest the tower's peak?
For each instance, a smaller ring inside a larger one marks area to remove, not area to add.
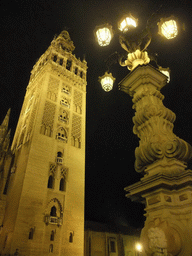
[[[94,30],[94,34],[100,46],[107,46],[113,38],[112,26],[108,23],[102,26],[97,26]]]

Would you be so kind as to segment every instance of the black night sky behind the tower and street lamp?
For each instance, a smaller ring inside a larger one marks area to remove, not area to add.
[[[174,132],[192,144],[192,27],[189,1],[61,1],[2,0],[0,2],[0,121],[12,108],[10,126],[14,132],[30,71],[45,52],[55,34],[67,29],[76,46],[74,53],[88,63],[86,126],[85,218],[113,224],[141,227],[143,207],[125,198],[124,187],[141,177],[134,170],[131,98],[118,90],[128,70],[118,66],[114,90],[106,93],[98,77],[106,71],[104,60],[122,51],[117,36],[110,46],[100,48],[93,36],[96,25],[109,22],[117,29],[119,18],[131,12],[145,26],[147,19],[163,4],[162,16],[174,14],[185,23],[185,32],[166,41],[154,29],[150,52],[158,54],[158,64],[170,67],[171,82],[162,90],[164,104],[177,115]]]

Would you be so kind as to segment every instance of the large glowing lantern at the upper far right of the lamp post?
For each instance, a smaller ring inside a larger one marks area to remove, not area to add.
[[[178,35],[177,22],[173,16],[164,19],[157,23],[159,27],[158,33],[167,39],[175,38]]]

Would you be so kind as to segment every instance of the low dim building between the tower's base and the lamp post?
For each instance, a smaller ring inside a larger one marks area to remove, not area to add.
[[[85,222],[84,256],[135,256],[140,230]]]

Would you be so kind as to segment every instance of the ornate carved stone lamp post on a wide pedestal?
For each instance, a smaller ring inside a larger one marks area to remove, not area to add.
[[[119,88],[132,97],[133,133],[139,138],[135,170],[144,177],[125,188],[126,196],[146,206],[142,255],[192,255],[192,171],[187,169],[192,147],[173,133],[176,117],[163,105],[160,92],[169,70],[149,65],[150,26],[132,36],[136,21],[130,22],[130,17],[122,21],[125,32],[120,33],[119,42],[126,58],[120,57],[119,63],[131,72]],[[173,39],[178,34],[176,24],[173,16],[161,19],[159,33]]]

